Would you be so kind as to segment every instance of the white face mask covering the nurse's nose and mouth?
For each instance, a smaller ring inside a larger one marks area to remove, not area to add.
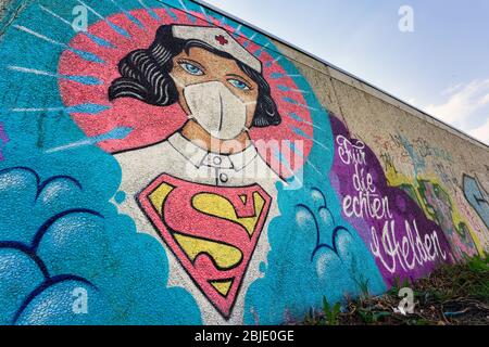
[[[247,105],[220,81],[190,85],[184,88],[190,117],[211,136],[231,140],[247,130]]]

